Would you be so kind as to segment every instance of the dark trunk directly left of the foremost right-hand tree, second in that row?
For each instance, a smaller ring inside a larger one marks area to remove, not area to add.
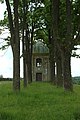
[[[53,59],[55,59],[56,68],[57,68],[57,74],[56,74],[56,84],[62,85],[62,70],[61,70],[61,55],[60,55],[60,44],[59,44],[59,5],[60,1],[57,0],[51,0],[51,15],[52,15],[52,43],[51,48],[54,48],[54,51],[52,52]],[[51,57],[52,58],[52,57]],[[54,60],[53,60],[54,64]],[[52,68],[54,69],[54,68]],[[54,74],[54,73],[53,73]]]

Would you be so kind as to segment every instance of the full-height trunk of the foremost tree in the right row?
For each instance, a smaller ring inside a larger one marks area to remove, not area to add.
[[[64,77],[64,89],[73,90],[72,78],[71,78],[71,39],[72,39],[72,23],[71,23],[71,1],[66,0],[66,41],[63,49],[63,77]]]

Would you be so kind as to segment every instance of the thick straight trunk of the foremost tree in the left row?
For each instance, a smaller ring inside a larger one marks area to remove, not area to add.
[[[14,26],[15,26],[15,47],[13,50],[14,76],[13,89],[20,90],[20,39],[19,39],[19,21],[18,21],[18,4],[19,0],[14,0]]]

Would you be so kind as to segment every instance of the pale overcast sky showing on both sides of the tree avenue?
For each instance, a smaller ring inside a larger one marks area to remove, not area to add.
[[[0,20],[3,19],[4,10],[6,9],[5,4],[0,4]],[[7,31],[3,31],[3,34],[0,35],[0,46],[2,43],[3,37],[8,35]],[[80,50],[77,50],[77,53],[80,54]],[[22,71],[22,59],[21,59],[21,77],[23,76]],[[71,74],[72,76],[80,76],[80,58],[71,57]],[[13,77],[13,55],[11,47],[7,50],[0,50],[0,75],[3,77]]]

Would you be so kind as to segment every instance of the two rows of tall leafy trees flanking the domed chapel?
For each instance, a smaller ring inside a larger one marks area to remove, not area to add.
[[[22,41],[24,87],[32,82],[32,47],[42,39],[49,47],[50,81],[73,91],[71,55],[80,39],[79,0],[5,0],[7,10],[1,26],[13,52],[13,89],[20,90],[20,40]],[[55,74],[56,65],[56,74]]]

